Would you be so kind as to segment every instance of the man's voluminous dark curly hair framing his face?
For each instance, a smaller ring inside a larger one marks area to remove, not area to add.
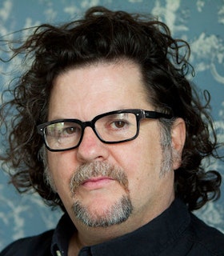
[[[194,72],[188,62],[190,46],[171,37],[169,28],[156,18],[102,6],[86,11],[84,18],[60,26],[42,24],[19,46],[11,46],[12,58],[25,54],[32,59],[13,89],[13,98],[1,106],[2,132],[8,130],[8,150],[2,154],[3,167],[10,170],[10,182],[19,192],[34,189],[51,206],[61,206],[58,194],[44,179],[39,158],[43,141],[36,126],[47,121],[48,102],[54,79],[66,70],[98,61],[122,58],[137,63],[157,110],[171,112],[186,122],[186,143],[182,165],[175,170],[175,193],[189,210],[202,207],[220,196],[221,175],[206,171],[204,158],[222,158],[210,118],[210,94],[203,104],[186,75]],[[13,118],[9,122],[10,110]],[[163,126],[171,126],[161,119]]]

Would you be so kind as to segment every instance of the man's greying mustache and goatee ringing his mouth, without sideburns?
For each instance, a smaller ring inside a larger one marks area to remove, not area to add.
[[[70,191],[75,198],[76,190],[88,178],[106,176],[116,180],[125,190],[122,198],[104,210],[103,214],[91,213],[82,202],[76,200],[72,206],[74,216],[89,227],[108,227],[125,222],[133,211],[128,190],[128,180],[124,171],[106,162],[92,162],[78,167],[70,178]]]

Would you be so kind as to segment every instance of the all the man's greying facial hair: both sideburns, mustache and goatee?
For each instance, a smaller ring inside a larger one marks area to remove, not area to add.
[[[170,136],[167,136],[168,134],[170,134],[170,132],[163,128],[160,138],[162,147],[160,178],[164,177],[166,173],[171,170],[174,160],[181,158],[178,152],[172,148],[171,139]],[[45,166],[45,182],[51,187],[54,193],[57,193],[54,178],[52,177],[47,164],[45,146],[43,146],[40,150],[39,156],[42,158]],[[89,165],[80,166],[78,170],[75,170],[74,175],[70,178],[71,194],[75,198],[75,192],[78,189],[78,186],[82,184],[82,182],[88,178],[97,177],[99,175],[109,176],[117,180],[126,191],[126,194],[124,194],[122,198],[118,200],[118,202],[115,202],[113,206],[110,206],[110,209],[106,209],[101,216],[91,214],[88,209],[82,205],[82,202],[76,200],[72,206],[74,216],[83,224],[90,227],[107,227],[125,222],[127,218],[130,217],[134,207],[130,200],[126,174],[118,167],[111,166],[105,162],[93,162]]]

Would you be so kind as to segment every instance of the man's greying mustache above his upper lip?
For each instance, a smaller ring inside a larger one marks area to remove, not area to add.
[[[126,192],[128,189],[128,178],[126,173],[118,166],[111,165],[109,162],[91,162],[78,166],[70,178],[70,191],[75,194],[79,186],[86,180],[96,177],[108,177],[117,181]]]

